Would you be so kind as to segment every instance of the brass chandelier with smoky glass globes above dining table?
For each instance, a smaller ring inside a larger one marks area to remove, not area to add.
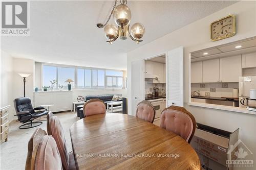
[[[141,38],[145,33],[145,28],[141,23],[137,22],[134,23],[134,25],[131,27],[130,33],[129,23],[132,18],[132,13],[126,4],[127,1],[121,0],[120,5],[116,6],[116,0],[111,14],[108,20],[106,20],[105,24],[103,25],[102,23],[97,23],[98,28],[104,28],[105,36],[108,39],[106,42],[110,44],[117,40],[118,37],[120,37],[122,40],[125,40],[127,39],[127,36],[129,36],[137,44],[142,41]],[[113,23],[108,23],[112,15],[117,26]]]

